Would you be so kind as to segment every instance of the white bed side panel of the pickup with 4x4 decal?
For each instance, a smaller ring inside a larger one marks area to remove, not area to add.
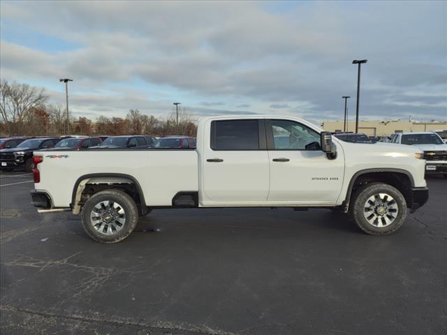
[[[69,207],[73,190],[66,187],[87,175],[133,177],[148,206],[170,206],[178,192],[198,191],[198,155],[193,149],[36,151],[34,156],[43,156],[41,181],[34,186],[50,193],[54,207]]]

